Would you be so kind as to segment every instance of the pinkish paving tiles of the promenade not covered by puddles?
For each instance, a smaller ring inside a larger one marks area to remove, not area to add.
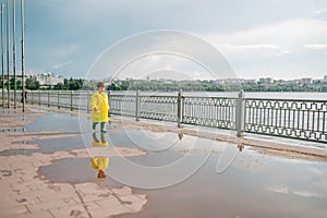
[[[22,131],[31,123],[28,117],[43,114],[27,111],[22,119],[20,111],[0,110],[0,152],[36,149],[39,145],[24,142],[74,136],[58,131]],[[141,156],[144,153],[124,147],[109,152],[111,157],[117,155]],[[38,173],[40,167],[55,160],[82,157],[89,157],[86,149],[0,155],[0,217],[110,217],[137,213],[146,204],[146,196],[133,193],[129,186],[111,189],[100,180],[78,184],[51,183]]]

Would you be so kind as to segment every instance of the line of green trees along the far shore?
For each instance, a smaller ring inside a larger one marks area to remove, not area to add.
[[[2,77],[0,77],[2,88]],[[63,83],[41,87],[33,77],[26,78],[25,87],[29,90],[95,90],[97,81],[83,78],[64,78]],[[8,83],[4,84],[7,88]],[[10,88],[14,89],[14,81],[10,80]],[[22,89],[22,82],[16,81],[16,89]],[[160,80],[131,80],[113,81],[107,86],[108,90],[143,90],[143,92],[327,92],[327,84],[217,84],[215,81],[160,81]]]

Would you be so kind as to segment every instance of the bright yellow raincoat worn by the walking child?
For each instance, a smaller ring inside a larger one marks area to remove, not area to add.
[[[108,122],[109,104],[108,96],[106,93],[95,93],[92,96],[90,108],[92,122]],[[97,111],[95,111],[95,109]]]

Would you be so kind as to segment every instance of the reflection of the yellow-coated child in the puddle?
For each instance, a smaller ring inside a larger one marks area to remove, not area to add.
[[[104,133],[100,135],[100,141],[97,138],[97,134],[94,132],[92,134],[94,147],[107,147],[109,143],[105,140]],[[98,171],[98,178],[104,179],[106,178],[105,170],[108,168],[109,165],[109,157],[93,157],[90,158],[92,167]]]

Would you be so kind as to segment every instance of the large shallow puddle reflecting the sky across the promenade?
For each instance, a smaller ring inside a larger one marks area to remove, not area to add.
[[[101,134],[96,135],[100,141]],[[327,214],[326,162],[277,157],[250,147],[240,152],[238,145],[187,135],[179,140],[175,133],[113,130],[104,137],[108,146],[148,153],[110,158],[108,178],[101,182],[138,187],[135,191],[148,198],[140,214],[121,217],[322,218]],[[92,133],[83,138],[86,147],[93,146]],[[40,173],[53,182],[97,181],[90,158],[62,159]]]

